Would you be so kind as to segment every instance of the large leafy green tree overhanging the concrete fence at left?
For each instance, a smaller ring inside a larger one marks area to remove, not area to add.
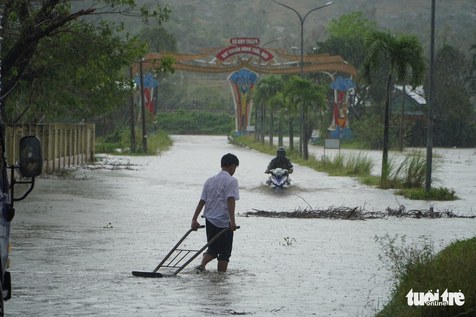
[[[72,10],[72,3],[75,7]],[[2,119],[14,123],[68,113],[87,118],[124,100],[132,84],[121,71],[145,46],[124,34],[123,24],[101,20],[114,15],[169,18],[168,7],[137,8],[135,0],[4,0],[2,42]]]

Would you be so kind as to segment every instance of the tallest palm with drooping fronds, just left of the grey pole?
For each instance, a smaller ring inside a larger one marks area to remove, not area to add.
[[[390,33],[372,31],[364,42],[366,56],[361,65],[360,76],[372,84],[371,74],[380,69],[382,61],[386,60],[389,66],[387,78],[387,95],[385,98],[385,118],[383,133],[382,176],[380,186],[385,188],[389,173],[389,126],[390,126],[390,94],[393,72],[396,71],[397,81],[403,82],[411,68],[409,85],[415,88],[422,83],[426,70],[422,43],[416,35],[402,34],[394,36]]]

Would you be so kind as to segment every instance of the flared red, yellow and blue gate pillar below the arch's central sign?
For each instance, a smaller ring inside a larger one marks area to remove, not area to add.
[[[250,94],[253,91],[258,75],[243,68],[228,76],[235,102],[235,126],[236,133],[245,133],[250,125],[251,111],[253,107]]]

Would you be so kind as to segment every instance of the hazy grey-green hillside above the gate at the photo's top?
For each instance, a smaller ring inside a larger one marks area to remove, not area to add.
[[[322,0],[280,0],[305,16],[309,10],[326,3]],[[155,5],[156,1],[138,0],[139,4]],[[274,47],[289,49],[299,46],[300,20],[297,14],[272,0],[160,0],[172,9],[171,20],[164,27],[174,33],[181,53],[229,44],[231,37],[258,37],[262,43],[273,38],[286,40]],[[306,48],[324,40],[327,23],[342,14],[362,11],[364,17],[376,20],[381,30],[417,33],[422,42],[429,41],[431,0],[339,0],[311,12],[304,23]],[[467,51],[476,43],[476,1],[436,1],[436,45],[443,42]],[[140,25],[127,21],[131,32]]]

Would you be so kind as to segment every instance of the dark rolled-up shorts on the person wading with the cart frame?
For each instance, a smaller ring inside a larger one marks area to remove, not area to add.
[[[225,228],[219,228],[213,223],[205,219],[206,240],[210,241]],[[211,255],[213,259],[218,258],[218,261],[230,262],[231,249],[233,247],[233,231],[229,230],[215,240],[208,246],[205,253]]]

